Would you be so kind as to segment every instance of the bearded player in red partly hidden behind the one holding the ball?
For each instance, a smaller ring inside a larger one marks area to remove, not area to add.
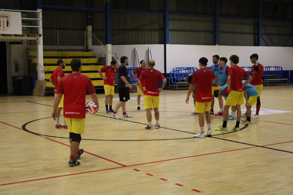
[[[66,66],[66,63],[65,61],[60,58],[57,60],[57,68],[53,71],[51,77],[50,77],[50,82],[52,82],[52,84],[55,86],[55,89],[54,89],[54,95],[56,97],[56,94],[57,94],[57,90],[58,90],[58,85],[59,85],[59,82],[61,80],[62,77],[65,77],[64,75],[64,72],[63,72],[63,69],[65,68]],[[66,125],[66,121],[64,119],[64,125],[60,125],[60,113],[61,113],[61,110],[63,108],[63,99],[64,99],[64,96],[62,96],[61,98],[61,101],[58,105],[58,108],[57,108],[57,118],[56,118],[56,125],[55,125],[55,129],[68,129],[67,125]]]

